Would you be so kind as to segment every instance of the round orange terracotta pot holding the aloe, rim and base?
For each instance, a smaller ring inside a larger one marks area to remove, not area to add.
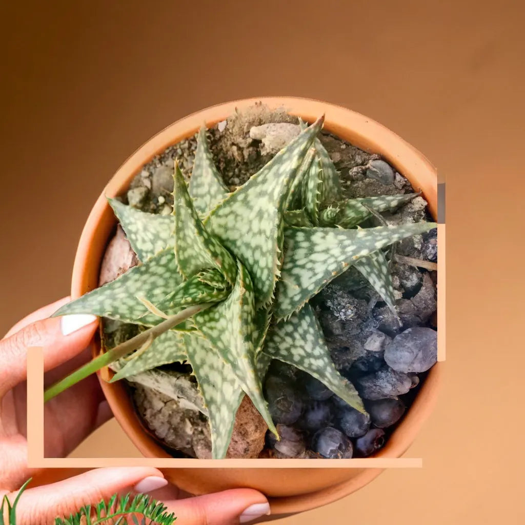
[[[132,178],[154,155],[167,146],[191,137],[206,123],[208,127],[227,118],[235,108],[245,108],[262,101],[270,107],[284,106],[290,113],[313,121],[325,114],[324,129],[347,140],[359,148],[381,154],[397,171],[421,189],[428,201],[430,213],[437,214],[437,174],[434,167],[411,145],[404,142],[381,124],[332,104],[300,98],[246,99],[207,108],[181,119],[155,135],[124,162],[93,207],[83,229],[72,277],[71,296],[80,297],[97,287],[99,268],[116,219],[106,201],[106,196],[125,192]],[[95,343],[93,343],[95,345]],[[93,348],[93,352],[100,352]],[[101,376],[108,372],[102,371]],[[396,428],[385,447],[376,457],[400,457],[411,445],[419,428],[432,410],[438,392],[442,365],[430,370],[426,381],[402,423]],[[146,457],[169,457],[155,441],[144,432],[135,414],[132,402],[120,382],[108,384],[101,381],[102,389],[117,421],[132,442]],[[278,460],[276,460],[278,461]],[[168,469],[167,478],[183,490],[202,494],[234,487],[253,487],[270,499],[271,519],[301,512],[335,501],[360,489],[381,469]]]

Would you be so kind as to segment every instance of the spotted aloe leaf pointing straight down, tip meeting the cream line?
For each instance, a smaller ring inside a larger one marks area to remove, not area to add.
[[[235,414],[243,400],[244,391],[232,366],[207,339],[198,334],[184,334],[184,340],[208,412],[212,457],[222,459],[228,450]]]

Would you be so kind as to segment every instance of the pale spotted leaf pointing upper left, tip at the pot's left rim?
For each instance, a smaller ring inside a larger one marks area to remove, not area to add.
[[[144,262],[175,244],[173,217],[141,212],[115,198],[108,198],[108,202],[140,261]]]

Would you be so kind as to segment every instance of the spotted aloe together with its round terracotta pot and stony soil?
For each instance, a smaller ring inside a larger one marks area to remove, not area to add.
[[[437,378],[435,261],[422,255],[435,248],[435,174],[348,110],[260,102],[175,123],[107,186],[79,246],[77,299],[56,313],[100,316],[102,351],[46,398],[109,366],[104,392],[149,456],[399,455]],[[116,221],[117,259],[108,246]],[[308,508],[304,493],[330,489],[333,499],[377,474],[352,470],[292,475],[298,482],[285,487],[274,469],[258,481],[223,471],[220,482],[211,470],[177,469],[177,484],[255,486],[280,497],[282,513]]]

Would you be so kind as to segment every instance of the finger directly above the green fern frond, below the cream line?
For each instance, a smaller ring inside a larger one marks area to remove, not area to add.
[[[148,493],[164,487],[160,470],[149,467],[98,468],[64,481],[30,488],[22,493],[16,508],[17,525],[49,525],[68,518],[83,506],[96,506],[115,493]],[[14,501],[16,493],[7,495]]]

